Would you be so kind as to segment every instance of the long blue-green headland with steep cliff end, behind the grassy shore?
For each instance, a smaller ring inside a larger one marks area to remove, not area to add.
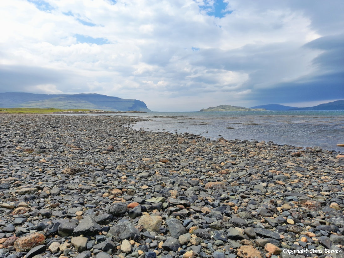
[[[0,107],[100,109],[108,111],[146,111],[147,105],[137,99],[122,99],[100,94],[33,94],[0,93]]]

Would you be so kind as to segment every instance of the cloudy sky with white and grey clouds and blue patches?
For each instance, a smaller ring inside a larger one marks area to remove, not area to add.
[[[0,1],[0,94],[154,111],[344,99],[343,0]]]

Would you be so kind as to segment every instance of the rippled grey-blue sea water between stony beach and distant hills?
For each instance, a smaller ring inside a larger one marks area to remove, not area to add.
[[[99,115],[99,114],[92,114]],[[273,141],[296,147],[319,146],[344,152],[344,110],[211,111],[102,114],[146,119],[135,130],[192,133],[211,140]]]

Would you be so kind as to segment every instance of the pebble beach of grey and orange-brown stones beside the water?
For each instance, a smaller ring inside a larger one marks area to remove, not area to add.
[[[0,257],[344,257],[342,153],[0,119]]]

